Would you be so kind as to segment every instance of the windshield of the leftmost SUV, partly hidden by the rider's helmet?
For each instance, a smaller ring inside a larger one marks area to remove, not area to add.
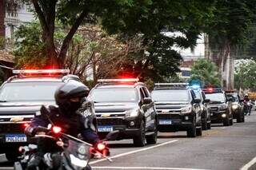
[[[54,101],[54,93],[62,82],[7,83],[0,90],[0,101]]]

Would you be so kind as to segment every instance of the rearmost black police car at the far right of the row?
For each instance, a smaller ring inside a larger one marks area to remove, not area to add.
[[[233,118],[236,119],[238,123],[245,122],[244,104],[238,93],[235,91],[226,91],[226,96],[232,100],[231,110]]]

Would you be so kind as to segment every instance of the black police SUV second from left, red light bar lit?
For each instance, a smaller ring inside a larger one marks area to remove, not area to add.
[[[135,146],[157,142],[157,114],[149,90],[137,79],[98,80],[90,91],[98,135],[119,130],[118,140],[133,139]]]

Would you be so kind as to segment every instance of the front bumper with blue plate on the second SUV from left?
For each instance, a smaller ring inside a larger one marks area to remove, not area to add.
[[[100,136],[101,139],[104,138],[110,131],[114,130],[119,131],[118,140],[132,139],[140,134],[141,120],[138,117],[98,118],[97,122],[98,136]]]

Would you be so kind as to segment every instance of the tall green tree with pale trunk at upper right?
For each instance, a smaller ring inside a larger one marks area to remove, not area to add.
[[[214,62],[222,72],[224,89],[232,89],[233,58],[238,57],[238,46],[245,45],[255,21],[255,0],[216,0],[214,18],[206,26]]]

